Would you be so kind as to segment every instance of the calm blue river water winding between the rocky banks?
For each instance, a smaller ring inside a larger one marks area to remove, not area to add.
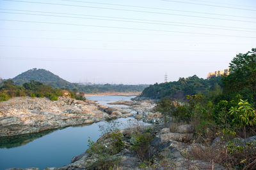
[[[100,104],[114,101],[129,101],[134,96],[88,96]],[[108,105],[108,104],[107,104]],[[120,128],[127,127],[127,122],[134,118],[118,118]],[[67,127],[56,131],[45,131],[28,134],[18,138],[0,138],[0,169],[11,167],[61,167],[88,148],[88,137],[96,141],[100,136],[99,125],[109,122],[98,122],[92,125]]]

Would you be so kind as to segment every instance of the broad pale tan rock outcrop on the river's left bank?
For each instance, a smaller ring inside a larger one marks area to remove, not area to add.
[[[130,111],[109,108],[90,100],[13,97],[0,103],[0,137],[131,116]]]

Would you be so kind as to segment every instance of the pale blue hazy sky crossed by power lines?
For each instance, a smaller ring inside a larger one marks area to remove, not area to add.
[[[227,69],[256,47],[255,0],[0,0],[0,77],[153,84]]]

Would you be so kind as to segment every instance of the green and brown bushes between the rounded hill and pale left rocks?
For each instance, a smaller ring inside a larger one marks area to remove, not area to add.
[[[0,102],[7,101],[11,97],[48,97],[51,101],[57,101],[60,96],[70,96],[75,99],[85,100],[83,94],[74,93],[70,90],[53,89],[49,85],[45,85],[39,81],[31,80],[22,86],[15,85],[12,80],[3,81],[0,87]]]

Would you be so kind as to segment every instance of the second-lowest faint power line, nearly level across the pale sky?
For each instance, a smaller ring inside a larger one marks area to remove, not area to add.
[[[132,49],[132,48],[85,48],[69,46],[22,46],[22,45],[0,45],[0,47],[19,47],[19,48],[52,48],[68,50],[116,50],[116,51],[149,51],[149,52],[233,52],[233,51],[211,51],[211,50],[154,50],[154,49]]]

